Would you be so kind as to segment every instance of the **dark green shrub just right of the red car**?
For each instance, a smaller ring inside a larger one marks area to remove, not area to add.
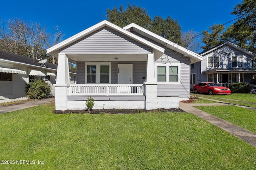
[[[228,88],[232,93],[250,93],[252,90],[252,85],[247,82],[231,83]]]

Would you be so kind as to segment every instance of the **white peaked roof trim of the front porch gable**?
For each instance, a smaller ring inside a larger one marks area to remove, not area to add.
[[[97,23],[96,25],[93,25],[92,27],[89,27],[88,29],[85,29],[84,31],[77,33],[76,35],[50,47],[49,49],[47,49],[47,54],[58,57],[58,53],[60,53],[60,49],[62,49],[63,47],[66,47],[67,45],[70,45],[71,43],[74,43],[78,39],[81,39],[82,37],[85,37],[86,35],[89,35],[90,33],[93,33],[94,31],[97,31],[98,29],[101,29],[103,27],[110,27],[111,29],[118,31],[118,32],[126,35],[127,37],[130,37],[144,45],[147,45],[148,47],[151,47],[152,49],[159,51],[160,53],[164,53],[164,48],[162,48],[154,43],[151,43],[149,41],[146,41],[145,39],[143,39],[137,35],[134,35],[133,33],[130,33],[129,31],[126,31],[125,29],[122,29],[121,27],[118,27],[117,25],[115,25],[109,21],[104,20],[104,21],[101,21],[100,23]]]

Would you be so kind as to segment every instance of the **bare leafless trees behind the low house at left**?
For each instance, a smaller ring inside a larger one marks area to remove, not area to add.
[[[0,21],[0,48],[34,59],[46,57],[46,48],[56,45],[62,37],[62,31],[58,31],[58,27],[54,27],[55,34],[52,35],[46,31],[46,26],[42,27],[37,22],[26,22],[18,18]],[[55,63],[55,59],[52,60]]]

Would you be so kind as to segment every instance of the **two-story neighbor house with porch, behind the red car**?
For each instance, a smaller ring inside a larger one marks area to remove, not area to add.
[[[191,64],[190,87],[198,82],[216,82],[226,86],[232,82],[251,83],[250,76],[256,74],[251,68],[251,58],[256,54],[226,42],[200,53],[203,60]]]

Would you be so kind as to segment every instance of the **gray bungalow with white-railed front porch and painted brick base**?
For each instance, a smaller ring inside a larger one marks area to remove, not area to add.
[[[102,21],[47,49],[58,57],[56,110],[178,108],[190,98],[190,64],[202,57],[134,23]],[[70,84],[68,61],[77,64]]]

